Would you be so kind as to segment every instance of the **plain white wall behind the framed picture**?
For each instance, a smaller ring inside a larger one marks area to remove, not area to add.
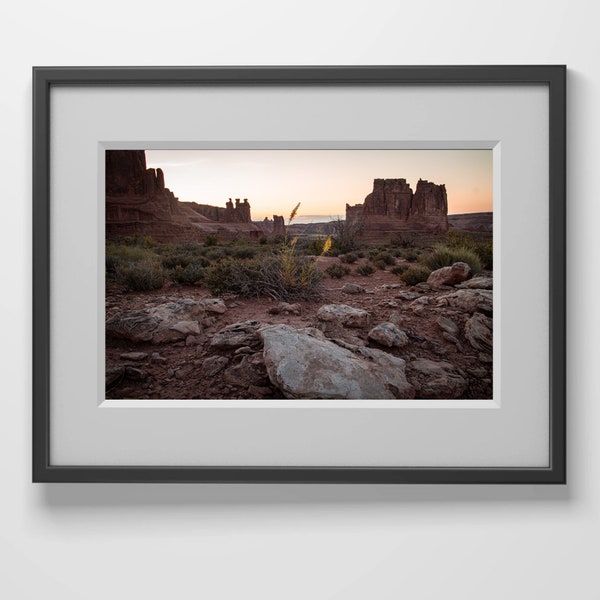
[[[25,0],[0,9],[0,594],[600,598],[597,6]],[[568,487],[30,483],[32,65],[509,63],[570,67]]]

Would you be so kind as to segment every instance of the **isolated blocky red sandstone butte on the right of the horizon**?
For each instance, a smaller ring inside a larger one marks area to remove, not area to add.
[[[419,179],[413,193],[406,179],[375,179],[363,204],[346,204],[346,222],[360,226],[366,240],[390,239],[408,231],[445,233],[446,187]]]

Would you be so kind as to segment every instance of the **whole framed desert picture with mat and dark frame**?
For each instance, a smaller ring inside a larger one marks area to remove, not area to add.
[[[33,480],[566,481],[566,68],[36,67]]]

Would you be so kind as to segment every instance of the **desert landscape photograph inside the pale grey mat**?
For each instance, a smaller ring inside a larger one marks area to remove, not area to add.
[[[490,399],[491,150],[106,150],[107,399]]]

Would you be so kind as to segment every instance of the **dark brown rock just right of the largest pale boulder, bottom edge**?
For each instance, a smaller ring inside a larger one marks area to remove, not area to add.
[[[409,380],[417,398],[460,398],[467,381],[449,362],[418,358],[408,364]]]

